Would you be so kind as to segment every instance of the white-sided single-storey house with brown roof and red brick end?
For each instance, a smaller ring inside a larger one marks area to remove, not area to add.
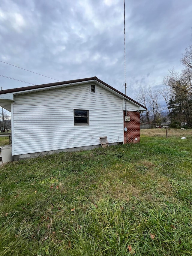
[[[138,143],[146,110],[97,77],[2,90],[0,106],[11,112],[14,160],[91,149],[103,136]]]

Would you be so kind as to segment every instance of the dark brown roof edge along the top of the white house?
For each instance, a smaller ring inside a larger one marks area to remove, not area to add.
[[[88,77],[88,78],[69,80],[69,81],[63,81],[63,82],[46,83],[46,84],[40,84],[40,85],[33,85],[33,86],[19,87],[19,88],[14,88],[14,89],[1,90],[0,95],[7,94],[7,93],[30,91],[30,90],[34,90],[34,89],[43,89],[43,88],[48,88],[48,87],[58,86],[58,85],[81,83],[81,82],[87,82],[87,81],[97,81],[97,82],[103,84],[104,86],[108,87],[109,89],[113,90],[114,92],[122,95],[125,99],[128,99],[129,101],[132,101],[135,104],[137,104],[140,107],[143,107],[144,109],[147,110],[147,108],[145,106],[143,106],[142,104],[140,104],[139,102],[134,101],[133,99],[131,99],[130,97],[128,97],[124,93],[118,91],[117,89],[113,88],[112,86],[108,85],[107,83],[103,82],[102,80],[98,79],[97,77]]]

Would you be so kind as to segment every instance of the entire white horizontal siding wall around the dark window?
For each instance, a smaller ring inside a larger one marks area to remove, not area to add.
[[[89,110],[89,125],[74,126],[73,109]],[[97,86],[70,86],[18,95],[13,104],[13,154],[27,154],[56,149],[123,141],[122,99]]]

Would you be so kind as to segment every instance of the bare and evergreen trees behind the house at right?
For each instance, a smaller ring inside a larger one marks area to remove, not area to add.
[[[147,113],[141,114],[142,123],[161,125],[165,121],[161,113],[166,110],[171,127],[192,127],[192,45],[185,49],[180,61],[184,66],[182,72],[169,70],[162,82],[163,89],[140,88],[137,101],[148,108]]]

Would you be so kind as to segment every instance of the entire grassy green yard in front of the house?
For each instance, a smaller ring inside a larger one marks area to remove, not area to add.
[[[186,140],[181,140],[181,137]],[[0,255],[192,255],[192,130],[0,168]]]

